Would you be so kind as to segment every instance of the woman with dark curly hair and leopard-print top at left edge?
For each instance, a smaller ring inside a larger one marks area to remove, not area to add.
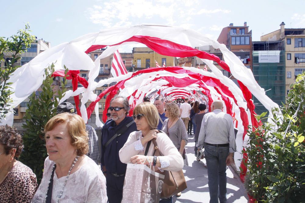
[[[19,132],[0,126],[0,202],[30,202],[37,190],[36,175],[16,160],[22,149]]]

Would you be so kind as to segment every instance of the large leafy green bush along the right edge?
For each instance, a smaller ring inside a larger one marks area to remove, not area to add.
[[[273,112],[275,125],[264,123],[248,131],[245,187],[259,202],[305,202],[304,72],[292,84],[286,103],[282,118]]]

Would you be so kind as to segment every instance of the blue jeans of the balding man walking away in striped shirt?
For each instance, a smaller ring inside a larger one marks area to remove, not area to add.
[[[218,199],[224,203],[227,201],[226,159],[229,155],[229,147],[215,147],[205,144],[204,154],[208,168],[210,203],[218,203]]]

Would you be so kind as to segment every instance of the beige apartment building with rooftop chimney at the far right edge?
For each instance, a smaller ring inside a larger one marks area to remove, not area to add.
[[[282,41],[285,50],[285,96],[290,90],[290,85],[295,82],[296,76],[305,71],[305,28],[285,28],[285,23],[280,24],[280,29],[260,37],[261,41]]]

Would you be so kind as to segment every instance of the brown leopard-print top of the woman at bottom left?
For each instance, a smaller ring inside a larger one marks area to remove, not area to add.
[[[0,202],[31,202],[37,187],[36,175],[33,171],[17,161],[0,184]]]

